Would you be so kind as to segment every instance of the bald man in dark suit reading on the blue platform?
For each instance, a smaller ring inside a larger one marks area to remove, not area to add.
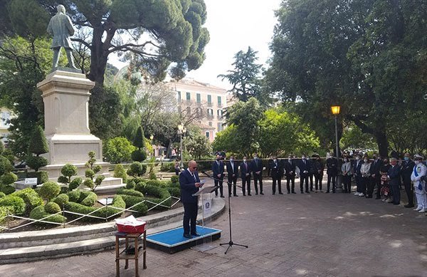
[[[191,239],[192,236],[200,236],[196,231],[197,219],[197,200],[198,197],[192,196],[199,192],[200,183],[199,173],[197,172],[197,163],[189,161],[189,166],[186,170],[179,174],[179,187],[181,187],[181,202],[184,205],[184,237]]]

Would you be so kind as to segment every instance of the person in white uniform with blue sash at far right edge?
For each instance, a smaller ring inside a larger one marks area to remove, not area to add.
[[[414,155],[415,166],[411,173],[411,181],[413,182],[413,190],[416,195],[417,207],[415,211],[427,211],[427,194],[426,194],[426,181],[427,167],[422,163],[423,157]]]

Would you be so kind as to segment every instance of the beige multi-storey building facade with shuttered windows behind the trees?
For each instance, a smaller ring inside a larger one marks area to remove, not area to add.
[[[201,127],[209,141],[226,127],[224,110],[227,107],[227,90],[193,79],[167,83],[176,93],[179,111],[191,122]]]

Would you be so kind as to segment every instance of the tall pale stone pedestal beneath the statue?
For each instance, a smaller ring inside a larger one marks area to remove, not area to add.
[[[84,175],[88,152],[96,152],[97,164],[102,166],[99,174],[107,174],[107,162],[102,162],[102,141],[90,134],[89,90],[95,83],[84,74],[68,72],[66,69],[53,71],[37,84],[42,91],[45,110],[45,135],[49,152],[48,166],[42,168],[49,177],[60,176],[64,164],[75,164],[79,175]]]

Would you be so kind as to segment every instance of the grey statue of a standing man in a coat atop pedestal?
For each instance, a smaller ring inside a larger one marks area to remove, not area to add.
[[[48,33],[53,35],[51,46],[53,49],[52,68],[55,69],[58,67],[60,48],[63,47],[65,48],[65,53],[67,53],[68,67],[78,69],[74,66],[70,41],[70,36],[73,36],[74,34],[73,23],[71,23],[70,17],[65,14],[65,6],[58,5],[56,9],[58,10],[58,13],[51,18],[48,25]]]

